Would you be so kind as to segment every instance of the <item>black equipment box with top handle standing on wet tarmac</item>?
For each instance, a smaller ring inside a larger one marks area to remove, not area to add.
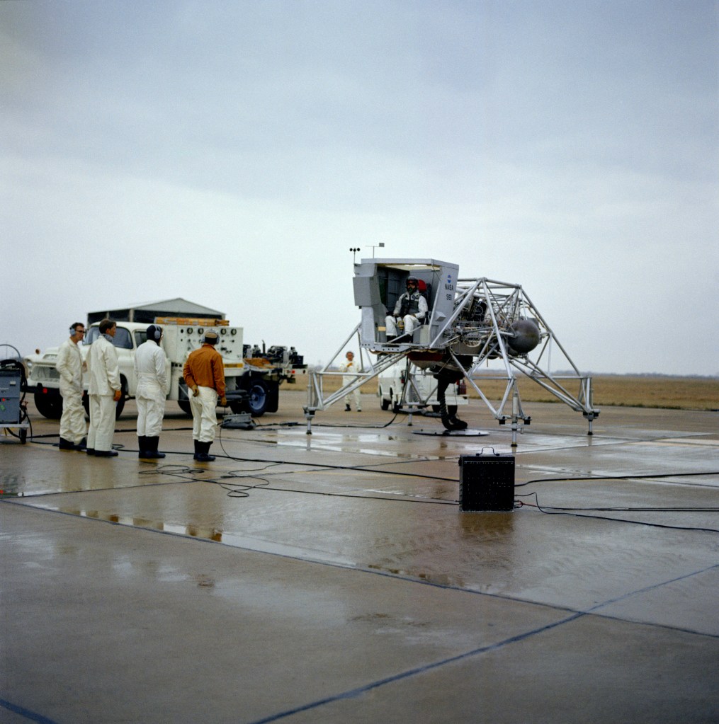
[[[460,510],[512,513],[514,509],[514,455],[460,455]]]

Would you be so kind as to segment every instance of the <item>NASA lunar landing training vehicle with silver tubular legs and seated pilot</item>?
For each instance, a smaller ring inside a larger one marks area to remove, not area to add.
[[[520,399],[518,374],[582,413],[592,434],[599,410],[592,406],[591,377],[580,373],[520,285],[486,277],[460,278],[457,264],[435,259],[371,258],[354,265],[354,303],[361,321],[331,361],[310,373],[304,408],[308,434],[317,411],[403,359],[408,371],[412,363],[436,378],[436,400],[446,434],[467,426],[444,404],[446,388],[463,378],[500,425],[511,423],[512,446],[516,446],[521,426],[530,422]],[[323,379],[341,374],[333,368],[354,338],[362,372],[325,396]],[[561,372],[554,374],[552,368]],[[421,411],[426,401],[417,399],[416,390],[411,389],[411,374],[406,379],[402,402],[406,405],[412,397],[410,409]],[[490,380],[500,381],[504,392],[499,399],[491,400],[482,390]]]

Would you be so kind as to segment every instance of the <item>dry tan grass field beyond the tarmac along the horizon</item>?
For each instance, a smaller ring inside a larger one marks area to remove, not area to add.
[[[325,392],[338,389],[341,376],[325,377]],[[302,381],[299,381],[302,384]],[[497,400],[504,392],[506,383],[486,380],[478,387],[489,397]],[[469,386],[470,397],[478,397]],[[526,378],[519,378],[520,395],[525,402],[558,402],[539,384]],[[578,384],[567,387],[569,392],[578,393]],[[670,377],[649,375],[594,375],[592,376],[594,406],[623,405],[626,407],[671,408],[677,410],[719,410],[718,377]],[[362,387],[365,394],[377,392],[377,379],[370,380]]]

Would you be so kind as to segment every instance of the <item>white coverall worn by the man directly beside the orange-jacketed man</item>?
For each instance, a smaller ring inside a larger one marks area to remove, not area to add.
[[[159,437],[167,397],[167,357],[157,342],[147,340],[135,354],[138,437]]]

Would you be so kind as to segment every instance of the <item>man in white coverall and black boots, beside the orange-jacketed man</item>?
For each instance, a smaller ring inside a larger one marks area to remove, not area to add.
[[[169,390],[167,356],[159,346],[160,340],[162,327],[151,324],[147,328],[147,341],[137,348],[135,354],[138,458],[165,457],[164,452],[157,452]]]

